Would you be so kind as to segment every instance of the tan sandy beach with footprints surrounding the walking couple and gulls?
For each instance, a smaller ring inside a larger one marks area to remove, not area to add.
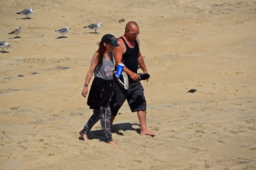
[[[256,169],[256,1],[0,2],[0,41],[10,44],[0,52],[0,169]],[[29,19],[16,14],[29,7]],[[142,84],[156,137],[139,135],[124,103],[118,146],[105,143],[100,122],[82,141],[97,42],[122,36],[130,20],[151,75]],[[95,22],[97,33],[84,28]],[[18,38],[8,34],[18,26]]]

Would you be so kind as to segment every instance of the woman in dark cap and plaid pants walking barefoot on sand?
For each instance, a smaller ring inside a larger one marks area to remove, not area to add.
[[[83,140],[87,139],[87,133],[89,133],[91,127],[100,120],[107,143],[109,145],[117,145],[112,139],[110,126],[111,109],[109,107],[109,101],[113,93],[113,49],[117,46],[119,44],[117,44],[117,39],[113,35],[104,35],[100,41],[98,50],[91,60],[91,66],[85,78],[82,96],[87,96],[88,84],[94,73],[95,78],[91,84],[87,99],[87,105],[89,105],[90,109],[94,109],[94,114],[91,115],[83,130],[79,132]]]

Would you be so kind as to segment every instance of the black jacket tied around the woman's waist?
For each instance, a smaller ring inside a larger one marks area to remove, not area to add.
[[[109,103],[109,99],[113,92],[113,80],[104,80],[102,78],[94,78],[89,91],[87,105],[90,109],[100,109]]]

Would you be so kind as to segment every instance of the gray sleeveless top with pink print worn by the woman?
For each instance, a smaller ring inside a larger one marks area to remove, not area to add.
[[[102,78],[104,80],[113,80],[113,53],[110,53],[111,61],[106,61],[103,56],[102,65],[97,65],[94,69],[94,76],[96,78]]]

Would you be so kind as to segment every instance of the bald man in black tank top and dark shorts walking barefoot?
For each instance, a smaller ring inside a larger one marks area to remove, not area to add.
[[[143,70],[143,73],[147,73],[147,68],[145,66],[143,56],[139,50],[139,26],[136,22],[130,21],[126,24],[124,35],[120,37],[117,41],[119,46],[115,48],[115,67],[118,63],[124,63],[124,71],[128,75],[129,87],[125,90],[117,84],[114,83],[114,95],[111,99],[111,127],[113,120],[122,107],[124,101],[128,101],[128,105],[132,112],[137,112],[139,118],[139,123],[141,125],[141,135],[150,135],[152,137],[155,134],[149,131],[146,126],[146,100],[144,97],[143,86],[141,85],[141,77],[137,74],[138,65]],[[149,79],[146,80],[148,82]]]

